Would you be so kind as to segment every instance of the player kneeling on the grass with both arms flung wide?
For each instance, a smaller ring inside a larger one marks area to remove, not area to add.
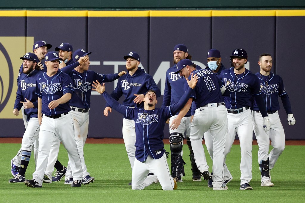
[[[115,110],[128,119],[135,121],[136,152],[133,165],[131,187],[133,190],[143,190],[154,181],[159,181],[163,190],[177,189],[176,181],[170,176],[163,144],[163,129],[165,121],[181,109],[196,86],[197,77],[188,81],[190,88],[181,97],[178,103],[168,107],[155,108],[157,95],[149,90],[143,99],[144,108],[124,106],[114,100],[105,91],[105,83],[98,81],[92,85]],[[151,171],[154,175],[147,176]]]

